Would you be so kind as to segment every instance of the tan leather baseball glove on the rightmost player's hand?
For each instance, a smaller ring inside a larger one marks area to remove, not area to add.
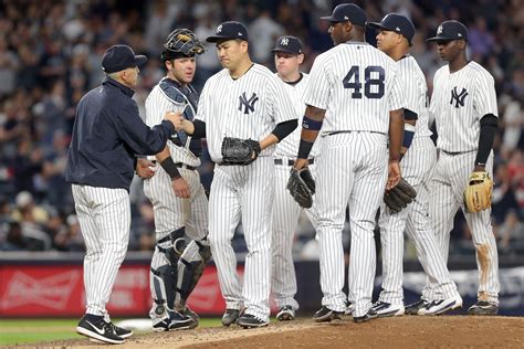
[[[480,212],[491,207],[493,181],[486,171],[471,173],[464,190],[464,205],[468,212]]]

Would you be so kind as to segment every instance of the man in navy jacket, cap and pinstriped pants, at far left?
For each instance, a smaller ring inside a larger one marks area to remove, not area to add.
[[[113,325],[106,304],[129,240],[129,186],[135,154],[160,151],[175,133],[175,114],[167,113],[168,120],[149,128],[132,99],[138,66],[146,61],[146,56],[136,56],[127,45],[114,45],[104,53],[102,67],[107,76],[76,107],[65,170],[87,248],[86,313],[76,331],[115,345],[133,335]]]

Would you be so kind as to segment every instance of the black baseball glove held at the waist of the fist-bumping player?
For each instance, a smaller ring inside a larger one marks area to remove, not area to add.
[[[260,151],[256,140],[226,137],[222,141],[222,165],[250,165]]]

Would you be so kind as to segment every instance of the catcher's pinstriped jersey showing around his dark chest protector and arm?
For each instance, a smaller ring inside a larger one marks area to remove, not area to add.
[[[163,80],[165,80],[164,77]],[[164,115],[167,112],[180,112],[184,109],[192,108],[190,103],[182,102],[178,103],[170,99],[166,93],[160,88],[160,83],[153,87],[151,92],[146,99],[146,125],[151,127],[158,125],[164,119]],[[195,110],[193,110],[195,114]],[[189,166],[198,167],[200,166],[200,158],[197,158],[187,147],[189,146],[190,137],[188,137],[186,147],[178,147],[172,141],[168,141],[167,146],[174,162],[182,162]],[[154,158],[154,157],[153,157]],[[151,158],[151,159],[153,159]]]

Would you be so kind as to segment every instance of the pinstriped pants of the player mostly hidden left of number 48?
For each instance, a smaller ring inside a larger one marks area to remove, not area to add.
[[[292,159],[290,159],[292,160]],[[286,189],[290,179],[291,166],[287,158],[283,163],[275,165],[275,200],[273,207],[273,239],[272,239],[272,283],[271,287],[279,308],[290,305],[298,309],[298,303],[294,299],[296,294],[296,276],[293,265],[293,237],[302,208],[293,199]],[[315,165],[310,165],[314,179]],[[304,210],[313,226],[317,228],[318,214],[316,213],[316,200],[311,209]]]

